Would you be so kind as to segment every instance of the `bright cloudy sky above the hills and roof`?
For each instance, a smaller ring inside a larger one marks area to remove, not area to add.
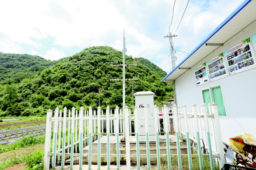
[[[146,58],[169,73],[171,48],[164,38],[168,32],[177,35],[172,39],[177,65],[243,0],[187,2],[1,0],[0,52],[58,60],[93,46],[122,51],[125,29],[126,54]]]

